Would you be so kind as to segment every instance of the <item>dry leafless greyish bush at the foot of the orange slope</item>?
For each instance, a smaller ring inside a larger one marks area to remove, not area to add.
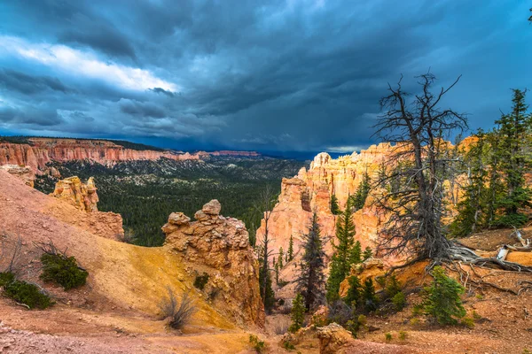
[[[198,311],[194,300],[188,293],[183,293],[181,301],[177,302],[172,289],[168,288],[168,298],[164,298],[159,304],[160,312],[164,319],[169,319],[168,326],[174,329],[184,327],[192,319],[192,315]]]

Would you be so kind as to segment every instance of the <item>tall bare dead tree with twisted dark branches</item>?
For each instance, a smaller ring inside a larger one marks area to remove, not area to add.
[[[387,160],[383,178],[397,186],[376,199],[379,209],[387,213],[378,250],[381,254],[408,254],[414,259],[433,259],[436,263],[449,258],[451,242],[442,230],[444,213],[443,181],[450,147],[446,139],[467,127],[465,114],[439,104],[450,89],[433,93],[436,80],[432,73],[418,77],[418,95],[403,91],[402,80],[389,95],[380,100],[383,110],[376,124],[384,141],[395,143],[392,157]],[[382,181],[380,181],[382,183]]]

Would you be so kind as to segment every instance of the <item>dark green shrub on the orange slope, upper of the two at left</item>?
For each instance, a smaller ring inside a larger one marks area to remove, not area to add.
[[[74,257],[66,257],[63,254],[44,253],[41,256],[41,263],[43,263],[41,279],[57,282],[65,290],[85,285],[89,275],[78,266]]]

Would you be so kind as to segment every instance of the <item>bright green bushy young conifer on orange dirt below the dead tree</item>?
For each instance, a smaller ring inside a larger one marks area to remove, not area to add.
[[[434,281],[424,289],[423,310],[441,325],[456,325],[458,319],[465,316],[460,299],[465,289],[445,274],[441,266],[435,266],[432,273]]]

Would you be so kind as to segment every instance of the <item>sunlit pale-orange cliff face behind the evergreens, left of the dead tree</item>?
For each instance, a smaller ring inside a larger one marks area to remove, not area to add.
[[[376,179],[379,165],[392,152],[389,143],[372,145],[360,153],[333,159],[322,152],[310,163],[309,170],[304,167],[297,176],[283,179],[278,204],[273,209],[269,220],[269,236],[272,250],[288,248],[290,235],[293,235],[294,251],[301,249],[301,235],[309,230],[312,212],[317,212],[321,226],[321,235],[325,241],[334,236],[336,216],[330,210],[331,196],[334,194],[339,201],[340,208],[347,203],[348,196],[356,193],[364,173]],[[381,226],[381,219],[377,211],[370,205],[371,197],[364,209],[356,212],[353,219],[356,225],[356,240],[362,247],[373,247],[377,240],[377,233]],[[257,230],[257,240],[265,231],[265,222]],[[332,255],[330,242],[324,242],[325,253]]]

